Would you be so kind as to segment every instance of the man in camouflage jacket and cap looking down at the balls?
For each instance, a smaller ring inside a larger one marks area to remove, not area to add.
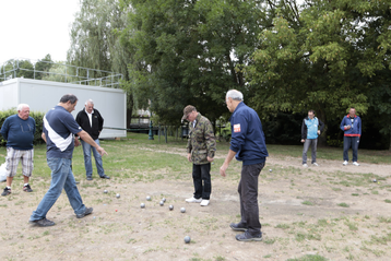
[[[185,119],[190,121],[187,152],[188,161],[193,163],[192,177],[194,183],[194,195],[187,199],[186,202],[200,203],[200,205],[206,206],[212,192],[211,162],[213,162],[216,151],[213,127],[211,121],[191,105],[183,109],[182,120]]]

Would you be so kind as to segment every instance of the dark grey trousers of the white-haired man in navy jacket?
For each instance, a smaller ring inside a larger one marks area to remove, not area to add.
[[[240,214],[245,226],[251,235],[259,235],[261,223],[259,222],[258,209],[258,177],[265,163],[244,165],[238,187],[240,195]]]

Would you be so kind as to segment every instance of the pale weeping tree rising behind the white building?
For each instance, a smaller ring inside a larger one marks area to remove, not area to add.
[[[128,63],[131,54],[120,44],[119,31],[126,28],[129,8],[120,7],[118,0],[81,0],[80,11],[71,29],[71,47],[68,61],[76,67],[112,71],[123,75],[122,85],[129,78]],[[86,70],[79,75],[86,76]],[[90,78],[110,76],[109,73],[88,71]],[[133,109],[132,93],[128,90],[128,126]]]

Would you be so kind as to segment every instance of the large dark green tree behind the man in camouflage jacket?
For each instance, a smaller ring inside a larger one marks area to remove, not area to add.
[[[240,64],[258,47],[261,2],[122,0],[133,9],[122,44],[133,54],[129,88],[140,107],[151,102],[162,122],[175,124],[188,104],[212,122],[227,114],[225,92],[248,92]]]

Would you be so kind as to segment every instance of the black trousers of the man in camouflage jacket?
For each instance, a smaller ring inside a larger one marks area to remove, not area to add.
[[[193,164],[194,199],[209,200],[212,192],[211,164]]]

